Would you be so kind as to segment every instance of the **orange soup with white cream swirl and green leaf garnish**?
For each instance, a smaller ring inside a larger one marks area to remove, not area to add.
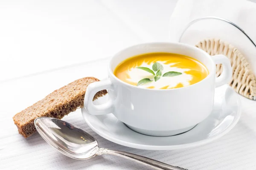
[[[201,62],[165,52],[140,54],[125,59],[114,70],[114,75],[123,82],[154,89],[186,87],[200,82],[208,74]]]

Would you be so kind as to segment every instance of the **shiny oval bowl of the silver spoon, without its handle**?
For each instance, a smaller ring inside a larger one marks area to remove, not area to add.
[[[99,150],[96,139],[68,122],[40,117],[35,119],[35,127],[46,142],[73,159],[89,159]]]

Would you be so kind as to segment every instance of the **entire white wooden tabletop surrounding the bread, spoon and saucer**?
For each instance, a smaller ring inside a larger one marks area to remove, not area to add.
[[[41,136],[24,139],[12,116],[81,77],[104,79],[108,57],[121,48],[168,40],[175,1],[0,1],[0,170],[138,170],[115,156],[68,158]],[[170,9],[170,10],[169,10]],[[77,110],[64,117],[123,150],[189,170],[256,170],[256,102],[240,97],[236,127],[215,142],[186,150],[149,151],[115,144],[94,133]]]

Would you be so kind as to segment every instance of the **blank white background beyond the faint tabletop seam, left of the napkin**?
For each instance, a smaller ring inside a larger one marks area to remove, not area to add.
[[[0,0],[0,82],[167,41],[177,0]]]

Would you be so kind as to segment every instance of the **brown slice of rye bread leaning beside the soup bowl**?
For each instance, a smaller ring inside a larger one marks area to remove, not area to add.
[[[17,113],[14,117],[14,123],[18,131],[25,138],[36,132],[34,120],[37,117],[47,116],[57,119],[63,118],[77,108],[84,106],[84,94],[87,86],[92,82],[98,82],[94,77],[85,77],[71,82],[64,87],[53,91],[44,99],[29,106],[25,110]],[[94,99],[107,94],[106,90],[95,94]]]

